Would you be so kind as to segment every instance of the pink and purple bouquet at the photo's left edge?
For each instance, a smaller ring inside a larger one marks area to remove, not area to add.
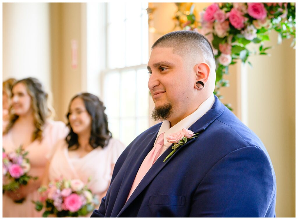
[[[4,148],[2,148],[2,193],[6,190],[15,192],[21,185],[27,185],[30,179],[38,179],[38,177],[27,174],[30,170],[29,159],[26,158],[27,154],[28,151],[24,151],[22,146],[9,154],[6,154]],[[14,202],[22,203],[23,201],[24,198]]]

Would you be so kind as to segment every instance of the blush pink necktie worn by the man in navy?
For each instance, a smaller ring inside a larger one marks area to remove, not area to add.
[[[158,159],[160,155],[160,151],[162,150],[162,146],[164,145],[164,133],[161,133],[156,141],[156,144],[152,148],[152,150],[147,154],[145,159],[142,162],[142,165],[139,168],[138,173],[136,174],[136,177],[134,179],[134,183],[131,186],[131,190],[128,194],[128,197],[126,199],[129,199],[131,194],[134,192],[136,187],[139,185],[145,174],[148,172],[148,170],[152,167],[154,162]]]

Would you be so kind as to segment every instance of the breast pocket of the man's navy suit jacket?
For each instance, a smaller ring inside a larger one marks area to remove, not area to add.
[[[148,205],[184,206],[186,196],[154,195],[149,197]]]

